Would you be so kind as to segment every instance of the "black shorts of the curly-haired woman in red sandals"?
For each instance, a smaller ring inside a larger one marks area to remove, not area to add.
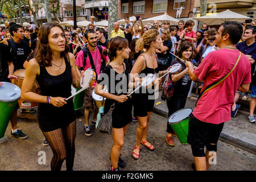
[[[154,110],[155,100],[149,99],[148,94],[134,94],[134,110],[138,117],[146,117]]]

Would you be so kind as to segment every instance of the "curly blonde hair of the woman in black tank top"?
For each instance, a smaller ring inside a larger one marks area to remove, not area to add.
[[[156,29],[150,29],[144,32],[142,38],[137,40],[136,47],[138,47],[140,50],[142,50],[143,48],[149,49],[151,46],[151,42],[154,42],[158,35],[159,32]]]

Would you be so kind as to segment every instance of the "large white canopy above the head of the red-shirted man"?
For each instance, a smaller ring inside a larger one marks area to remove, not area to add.
[[[220,13],[211,14],[207,16],[200,16],[194,19],[199,20],[199,22],[207,23],[208,25],[216,25],[216,24],[221,24],[228,21],[243,22],[243,20],[251,19],[251,18],[245,15],[234,13],[233,11],[230,11],[230,10],[225,10]]]

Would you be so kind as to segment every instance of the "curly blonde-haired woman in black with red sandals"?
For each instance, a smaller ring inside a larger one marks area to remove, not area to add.
[[[137,41],[136,46],[141,50],[145,48],[146,51],[136,60],[134,67],[131,70],[131,80],[136,77],[145,77],[150,73],[159,73],[159,76],[161,76],[168,72],[168,69],[166,71],[159,72],[155,50],[160,48],[160,44],[162,44],[162,40],[160,39],[159,32],[155,29],[146,31],[143,34],[143,37]],[[159,84],[160,80],[159,78],[157,79]],[[158,87],[158,84],[155,84],[156,88]],[[154,88],[151,90],[147,89],[146,92],[142,91],[143,90],[141,89],[139,93],[135,93],[132,96],[136,101],[134,104],[134,110],[137,113],[139,121],[136,133],[136,146],[131,154],[131,156],[136,160],[139,159],[141,144],[151,151],[155,150],[153,144],[149,143],[146,139],[148,121],[155,104]]]

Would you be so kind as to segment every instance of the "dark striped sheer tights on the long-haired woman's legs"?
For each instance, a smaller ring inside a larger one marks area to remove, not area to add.
[[[60,171],[66,159],[67,171],[72,171],[75,159],[76,121],[61,129],[43,132],[52,148],[52,171]]]

